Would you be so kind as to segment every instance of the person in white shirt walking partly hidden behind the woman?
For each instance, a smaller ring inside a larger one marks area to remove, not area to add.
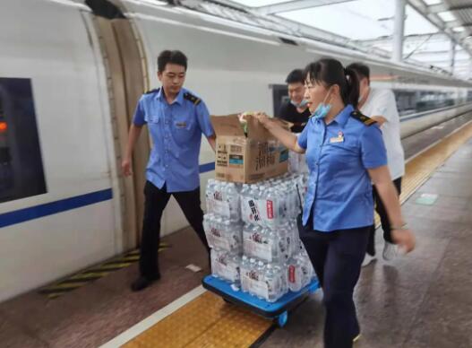
[[[353,63],[348,66],[348,69],[354,70],[359,78],[360,96],[358,109],[366,116],[373,118],[382,127],[390,177],[400,194],[401,178],[405,175],[405,154],[400,141],[399,111],[395,95],[393,91],[387,89],[371,88],[370,69],[367,65]],[[373,199],[375,211],[381,218],[383,239],[385,240],[382,257],[390,261],[398,256],[398,248],[391,239],[389,218],[375,187],[373,187]],[[370,264],[374,259],[375,226],[373,225],[363,265]]]

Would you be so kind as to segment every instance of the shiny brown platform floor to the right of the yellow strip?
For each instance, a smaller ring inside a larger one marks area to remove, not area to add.
[[[417,204],[422,194],[434,204]],[[420,187],[402,211],[415,231],[416,250],[363,268],[355,299],[362,338],[358,348],[472,347],[472,141]],[[322,347],[322,294],[305,301],[287,326],[262,347]]]

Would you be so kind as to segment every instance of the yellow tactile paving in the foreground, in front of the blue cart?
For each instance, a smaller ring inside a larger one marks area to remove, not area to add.
[[[270,325],[269,320],[207,291],[124,347],[249,347]]]

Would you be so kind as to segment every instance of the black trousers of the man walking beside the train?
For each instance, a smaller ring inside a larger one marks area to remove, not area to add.
[[[193,191],[168,193],[166,185],[155,187],[150,181],[144,187],[144,218],[142,222],[140,272],[148,279],[159,277],[158,249],[160,241],[160,218],[170,196],[176,198],[177,203],[185,214],[185,218],[197,232],[203,245],[208,248],[205,231],[203,230],[203,212],[200,206],[200,187]]]

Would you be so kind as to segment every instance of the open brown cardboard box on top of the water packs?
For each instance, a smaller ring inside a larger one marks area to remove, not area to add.
[[[254,117],[247,117],[247,135],[237,115],[212,116],[217,135],[216,178],[253,183],[287,172],[288,150]]]

